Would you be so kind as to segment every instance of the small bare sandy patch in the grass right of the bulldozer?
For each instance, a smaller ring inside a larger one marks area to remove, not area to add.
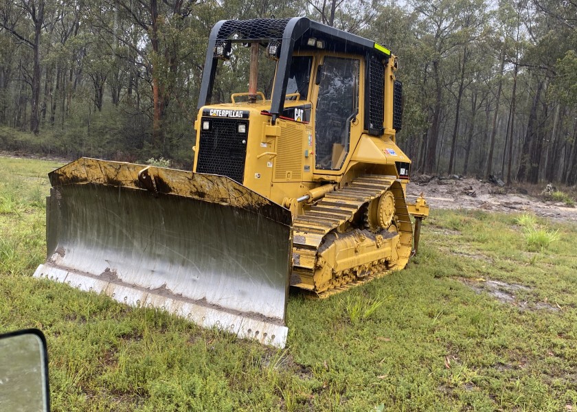
[[[531,288],[520,284],[509,284],[499,280],[482,280],[472,282],[470,279],[460,279],[464,284],[475,290],[476,293],[487,293],[503,304],[517,306],[521,310],[551,310],[557,312],[561,308],[547,302],[530,302],[519,300],[519,291],[529,292]]]

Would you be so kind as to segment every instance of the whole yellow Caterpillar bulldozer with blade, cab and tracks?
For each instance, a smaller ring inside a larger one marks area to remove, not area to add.
[[[223,96],[219,76],[243,63],[248,90]],[[193,171],[88,158],[54,170],[34,275],[284,347],[289,286],[324,297],[418,247],[429,207],[405,196],[397,64],[306,18],[218,22]]]

